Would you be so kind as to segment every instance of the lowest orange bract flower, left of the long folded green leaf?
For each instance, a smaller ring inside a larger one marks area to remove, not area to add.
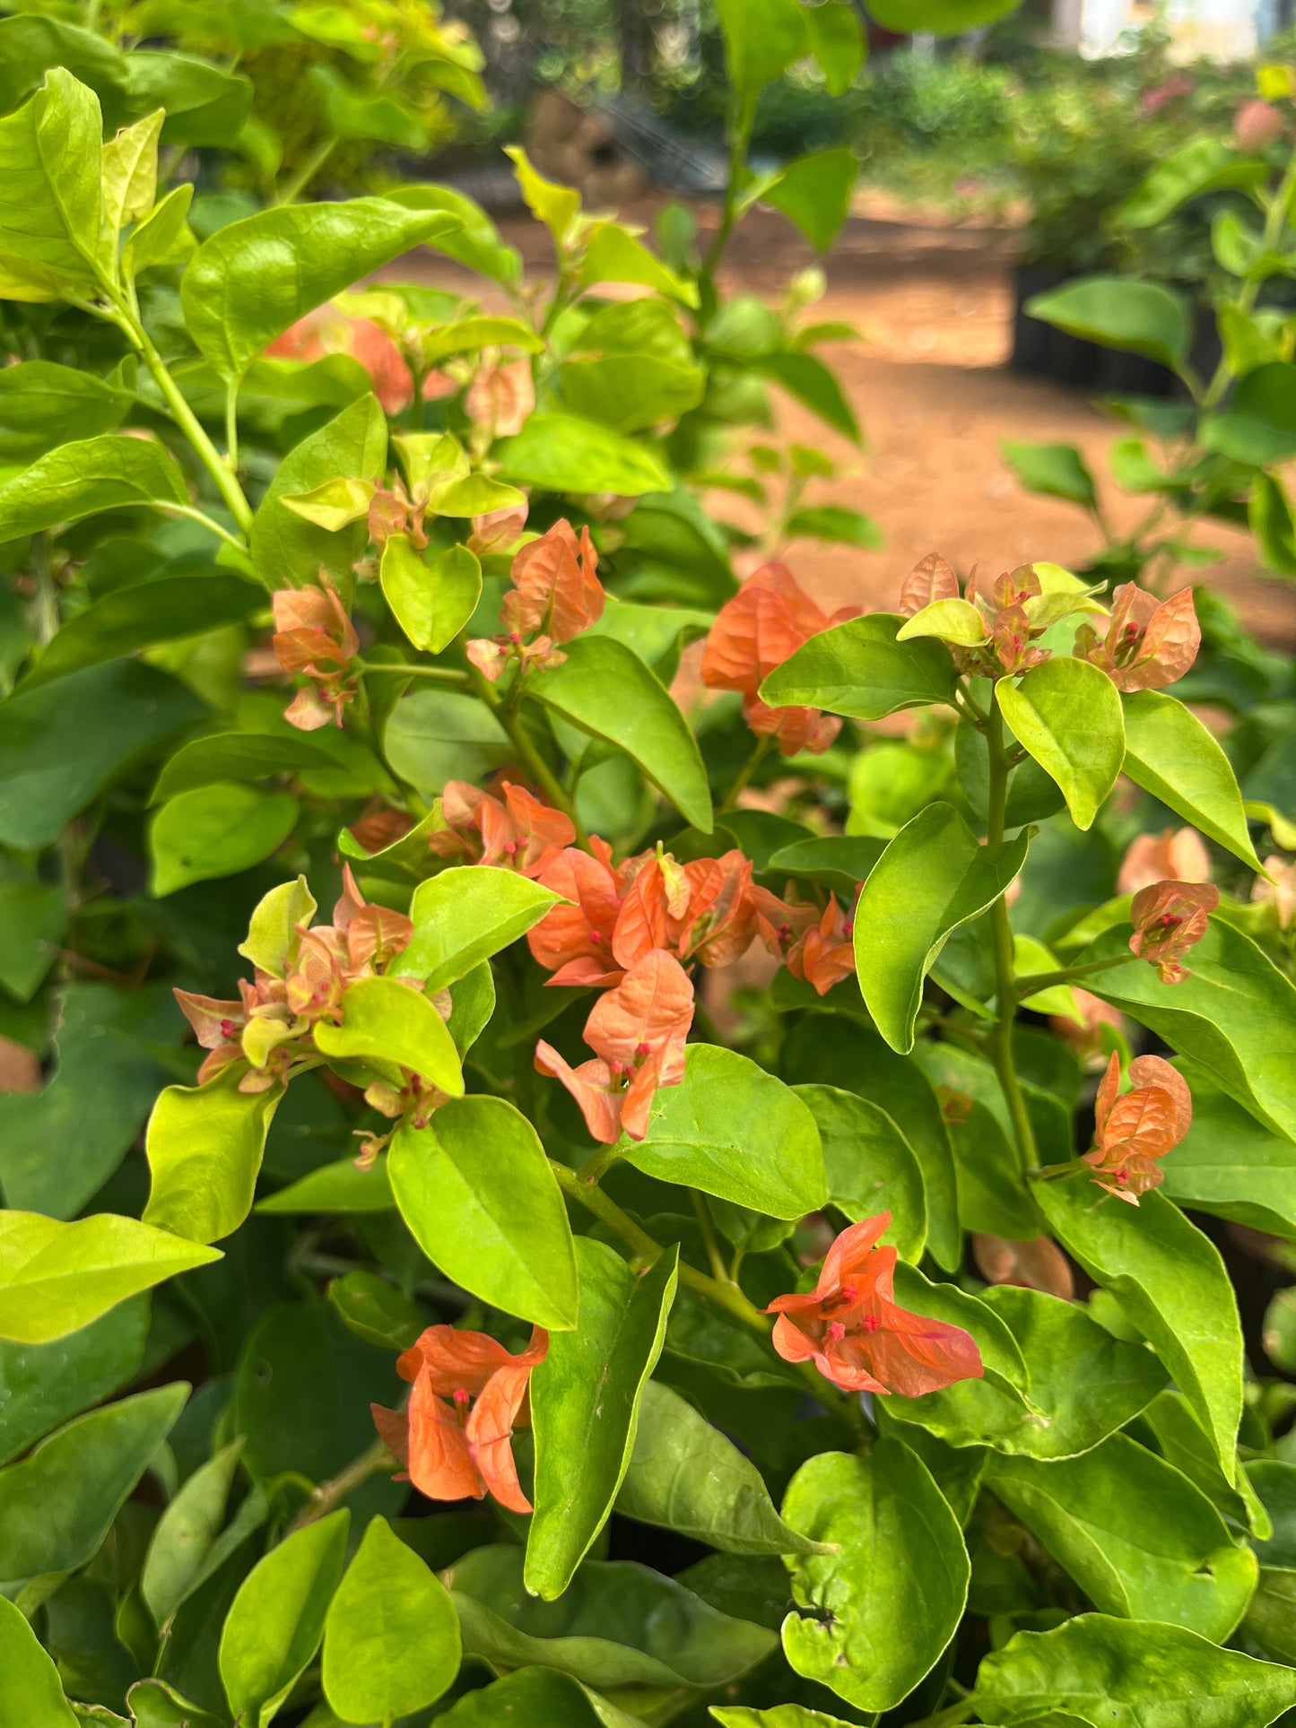
[[[513,1458],[513,1431],[530,1422],[530,1370],[544,1362],[550,1334],[536,1325],[511,1355],[486,1332],[430,1325],[396,1370],[413,1382],[408,1410],[372,1405],[373,1426],[429,1500],[494,1495],[510,1512],[530,1512]]]

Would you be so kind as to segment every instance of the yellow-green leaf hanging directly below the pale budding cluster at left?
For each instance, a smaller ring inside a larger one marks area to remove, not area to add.
[[[200,1087],[169,1085],[149,1118],[152,1185],[143,1222],[190,1242],[232,1236],[252,1210],[282,1087],[240,1092],[232,1064]]]

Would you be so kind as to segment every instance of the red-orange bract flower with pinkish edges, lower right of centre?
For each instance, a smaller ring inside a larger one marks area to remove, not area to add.
[[[778,1296],[774,1350],[785,1362],[814,1362],[848,1393],[899,1393],[919,1398],[985,1372],[976,1341],[945,1320],[928,1320],[897,1306],[895,1249],[878,1237],[890,1211],[845,1229],[824,1258],[814,1291]]]

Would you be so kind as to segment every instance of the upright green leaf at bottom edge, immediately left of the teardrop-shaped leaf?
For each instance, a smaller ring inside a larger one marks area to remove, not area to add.
[[[247,1728],[266,1728],[320,1649],[349,1522],[344,1507],[285,1536],[233,1598],[221,1631],[221,1681]]]

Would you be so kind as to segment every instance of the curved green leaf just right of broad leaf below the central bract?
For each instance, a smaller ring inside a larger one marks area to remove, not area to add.
[[[829,1085],[797,1087],[819,1127],[829,1204],[852,1223],[892,1213],[888,1241],[902,1260],[921,1260],[926,1198],[914,1151],[885,1109]]]

